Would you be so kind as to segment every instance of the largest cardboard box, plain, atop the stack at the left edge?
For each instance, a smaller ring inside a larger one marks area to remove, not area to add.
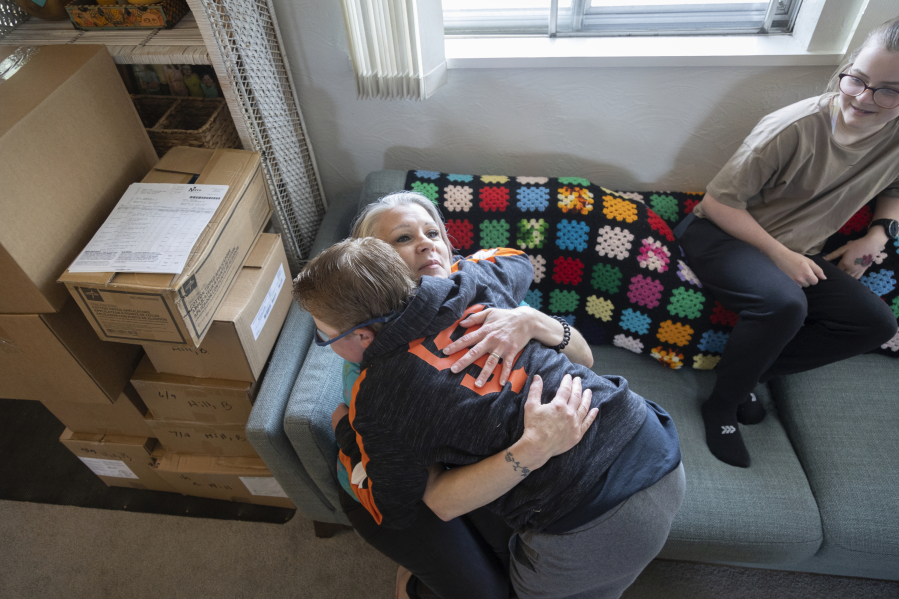
[[[56,279],[156,164],[105,46],[0,46],[0,313],[56,312]]]

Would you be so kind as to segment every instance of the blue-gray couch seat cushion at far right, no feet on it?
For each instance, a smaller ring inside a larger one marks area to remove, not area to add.
[[[899,368],[857,356],[771,381],[818,501],[824,543],[802,569],[899,580]]]

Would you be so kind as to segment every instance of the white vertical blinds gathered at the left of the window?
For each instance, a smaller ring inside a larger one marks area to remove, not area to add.
[[[435,0],[342,0],[360,99],[424,100],[446,82]]]

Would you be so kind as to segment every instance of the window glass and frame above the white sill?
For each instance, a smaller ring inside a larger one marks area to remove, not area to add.
[[[751,35],[792,31],[801,0],[443,0],[447,36]]]

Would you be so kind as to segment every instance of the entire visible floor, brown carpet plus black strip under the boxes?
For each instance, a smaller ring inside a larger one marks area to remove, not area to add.
[[[0,597],[393,597],[396,565],[353,532],[318,539],[293,510],[108,488],[62,430],[39,402],[0,400]],[[886,599],[899,583],[657,561],[624,595],[719,597]]]

